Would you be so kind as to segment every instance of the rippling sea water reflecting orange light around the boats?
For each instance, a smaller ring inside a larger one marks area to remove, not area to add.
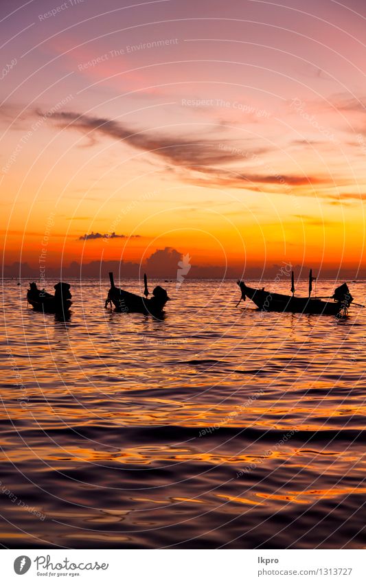
[[[4,547],[366,546],[366,310],[263,315],[235,282],[172,282],[157,321],[71,284],[66,322],[3,289]]]

